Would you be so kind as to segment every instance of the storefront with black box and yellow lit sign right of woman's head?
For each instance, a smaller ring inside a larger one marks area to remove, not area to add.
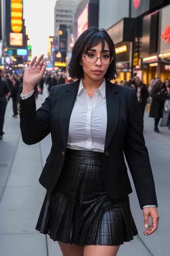
[[[116,52],[117,81],[129,80],[132,71],[132,51],[134,40],[134,19],[124,18],[108,29]]]

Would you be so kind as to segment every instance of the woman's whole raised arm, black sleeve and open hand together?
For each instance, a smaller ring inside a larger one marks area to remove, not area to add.
[[[37,57],[33,58],[30,66],[25,69],[22,95],[30,95],[34,90],[34,86],[41,81],[46,69],[43,56],[41,55],[38,60]],[[37,111],[34,93],[26,99],[19,97],[18,113],[20,114],[20,129],[25,144],[36,144],[50,133],[52,93],[53,90],[51,90],[42,107]]]

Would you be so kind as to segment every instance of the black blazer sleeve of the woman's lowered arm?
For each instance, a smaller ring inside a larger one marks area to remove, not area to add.
[[[146,205],[157,206],[155,183],[143,136],[141,112],[134,90],[132,90],[131,95],[131,108],[124,142],[124,154],[141,209]]]

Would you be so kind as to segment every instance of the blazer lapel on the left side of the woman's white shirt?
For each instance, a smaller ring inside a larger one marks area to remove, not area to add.
[[[69,132],[69,123],[72,109],[77,96],[80,80],[72,83],[68,88],[67,92],[63,93],[60,108],[60,129],[62,134],[63,144],[66,150],[67,137]]]

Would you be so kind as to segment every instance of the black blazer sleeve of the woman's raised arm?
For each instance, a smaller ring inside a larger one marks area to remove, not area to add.
[[[27,99],[19,99],[20,130],[25,144],[41,142],[50,133],[52,94],[53,88],[37,111],[34,93]]]

